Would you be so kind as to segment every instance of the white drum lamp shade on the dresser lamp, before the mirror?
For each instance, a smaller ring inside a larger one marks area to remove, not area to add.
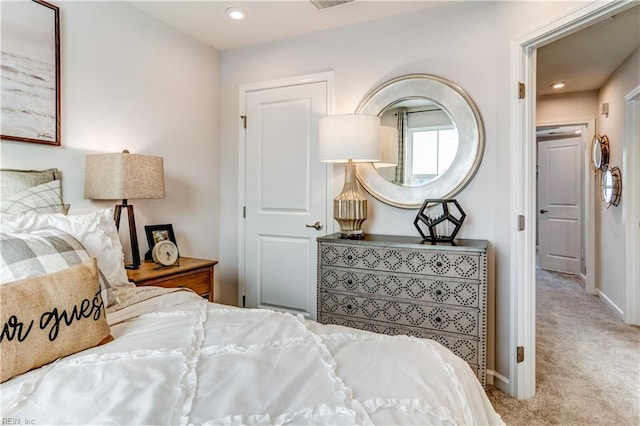
[[[380,117],[329,115],[322,117],[318,126],[320,161],[369,163],[380,160]]]

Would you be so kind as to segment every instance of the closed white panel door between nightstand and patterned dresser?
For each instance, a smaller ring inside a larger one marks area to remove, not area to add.
[[[244,282],[247,307],[316,317],[317,246],[327,225],[318,120],[327,81],[246,92]],[[319,223],[316,229],[311,226]]]

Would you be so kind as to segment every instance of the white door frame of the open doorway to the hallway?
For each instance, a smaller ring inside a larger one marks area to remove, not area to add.
[[[522,143],[512,147],[511,181],[513,182],[511,212],[518,223],[536,217],[535,194],[535,83],[537,49],[635,6],[631,2],[590,2],[579,6],[538,30],[512,43],[513,75],[522,83],[524,101],[513,86],[511,134]],[[636,189],[637,190],[637,189]],[[637,195],[636,195],[637,196]],[[535,225],[512,228],[511,247],[511,357],[509,392],[520,399],[535,394]],[[627,253],[629,255],[629,253]],[[639,256],[640,253],[633,253]],[[636,257],[637,258],[637,257]],[[630,277],[640,268],[635,262],[627,265],[625,285],[634,285]],[[631,270],[631,271],[629,271]],[[519,347],[527,357],[519,362]]]

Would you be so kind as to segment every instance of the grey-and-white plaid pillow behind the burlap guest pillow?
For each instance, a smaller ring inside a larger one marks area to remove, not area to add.
[[[57,229],[0,233],[0,284],[58,272],[89,258],[78,240]],[[104,274],[98,273],[102,300],[109,306],[115,295]]]

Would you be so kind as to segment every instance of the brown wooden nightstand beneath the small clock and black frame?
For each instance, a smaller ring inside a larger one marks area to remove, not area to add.
[[[156,269],[153,262],[142,262],[140,269],[128,269],[129,281],[135,285],[186,287],[213,302],[213,267],[217,260],[181,257],[180,265]]]

